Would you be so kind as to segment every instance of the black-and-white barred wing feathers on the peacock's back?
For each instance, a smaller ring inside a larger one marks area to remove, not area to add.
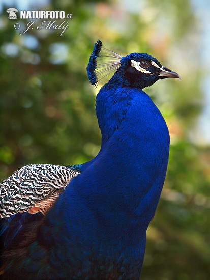
[[[42,202],[45,206],[51,205],[78,173],[67,166],[23,166],[0,183],[0,218],[36,208]]]

